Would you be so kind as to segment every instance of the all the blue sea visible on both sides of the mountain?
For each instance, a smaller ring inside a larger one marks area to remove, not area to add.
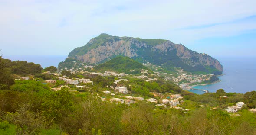
[[[49,66],[58,67],[59,62],[64,61],[67,56],[3,56],[12,61],[28,61],[40,64],[43,68]],[[209,85],[194,86],[195,89],[189,90],[193,93],[203,94],[203,90],[216,92],[223,89],[226,92],[246,93],[256,90],[256,56],[254,57],[213,57],[216,58],[224,67],[223,75],[219,76],[220,82]]]

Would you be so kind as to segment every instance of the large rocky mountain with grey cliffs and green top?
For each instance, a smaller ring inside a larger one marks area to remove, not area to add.
[[[117,55],[139,62],[150,62],[167,69],[181,67],[194,73],[222,74],[223,66],[207,54],[201,54],[164,39],[140,39],[101,34],[68,55],[86,63],[102,63]]]

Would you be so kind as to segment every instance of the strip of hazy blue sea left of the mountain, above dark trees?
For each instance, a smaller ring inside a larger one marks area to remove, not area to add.
[[[28,61],[36,64],[40,64],[41,67],[54,66],[58,67],[59,62],[64,61],[68,56],[57,55],[57,56],[3,56],[3,58],[8,58],[12,61]]]

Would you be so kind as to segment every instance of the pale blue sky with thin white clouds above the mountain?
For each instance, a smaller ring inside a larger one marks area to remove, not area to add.
[[[7,55],[68,55],[101,33],[256,56],[256,0],[0,0]]]

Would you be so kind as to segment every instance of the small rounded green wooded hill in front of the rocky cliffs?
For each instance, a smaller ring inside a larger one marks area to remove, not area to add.
[[[124,56],[117,56],[93,68],[98,71],[118,71],[125,74],[138,74],[142,69],[149,70],[141,63]]]

